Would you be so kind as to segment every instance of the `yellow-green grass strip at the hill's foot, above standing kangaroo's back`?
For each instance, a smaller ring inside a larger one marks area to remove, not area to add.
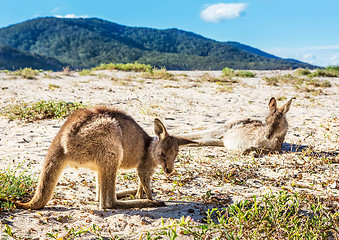
[[[108,63],[100,64],[100,66],[93,68],[93,70],[120,70],[125,72],[152,72],[153,67],[141,63]]]

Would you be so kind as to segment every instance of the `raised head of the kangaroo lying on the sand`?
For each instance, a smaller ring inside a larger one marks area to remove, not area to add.
[[[286,133],[287,120],[285,114],[290,110],[292,99],[284,104],[281,108],[277,107],[277,101],[274,97],[270,99],[268,104],[269,114],[266,117],[266,124],[268,126],[265,137],[270,140],[275,133]]]

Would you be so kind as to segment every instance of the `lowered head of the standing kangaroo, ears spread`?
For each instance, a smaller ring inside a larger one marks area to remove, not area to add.
[[[159,119],[154,119],[154,132],[159,138],[154,148],[154,158],[161,165],[165,173],[169,174],[174,169],[174,161],[179,152],[179,146],[196,143],[189,139],[170,136]]]

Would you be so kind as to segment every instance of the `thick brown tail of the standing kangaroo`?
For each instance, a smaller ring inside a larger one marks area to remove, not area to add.
[[[61,147],[50,147],[39,177],[33,198],[27,203],[13,202],[18,209],[42,209],[51,199],[58,178],[66,166],[64,151]]]

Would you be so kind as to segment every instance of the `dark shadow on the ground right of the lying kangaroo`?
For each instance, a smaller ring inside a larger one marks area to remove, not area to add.
[[[307,145],[298,145],[298,144],[290,144],[290,143],[283,143],[282,144],[282,152],[283,153],[296,153],[302,152],[305,156],[308,157],[338,157],[339,152],[332,151],[314,151],[313,149],[309,148]]]

